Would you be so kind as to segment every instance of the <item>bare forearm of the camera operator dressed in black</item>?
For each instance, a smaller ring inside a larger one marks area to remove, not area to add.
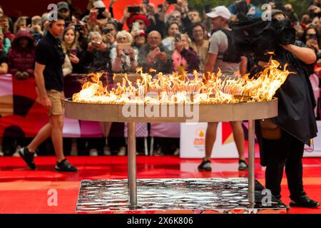
[[[304,48],[295,46],[294,44],[287,44],[282,46],[285,50],[290,51],[293,55],[300,59],[300,61],[306,64],[315,63],[317,56],[315,56],[315,51],[310,48]]]

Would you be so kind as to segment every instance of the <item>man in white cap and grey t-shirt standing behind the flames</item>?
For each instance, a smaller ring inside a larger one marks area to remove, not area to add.
[[[225,34],[228,33],[228,20],[230,19],[230,11],[225,6],[217,6],[213,11],[207,14],[212,19],[212,25],[215,30],[212,37],[210,38],[210,48],[208,51],[208,57],[204,66],[204,73],[212,73],[215,70],[215,73],[218,72],[218,68],[222,71],[225,77],[235,78],[235,71],[240,71],[240,74],[245,74],[246,71],[246,58],[240,57],[240,63],[228,62],[226,61],[224,53],[228,51],[228,36]],[[223,31],[220,31],[223,30]],[[233,53],[234,54],[234,53]],[[236,55],[236,53],[235,53]],[[232,56],[231,59],[233,59]],[[223,61],[223,59],[225,61]],[[229,59],[229,58],[228,58]],[[238,147],[239,155],[239,170],[246,170],[248,168],[247,163],[245,162],[244,156],[244,132],[242,128],[242,123],[230,122],[231,127],[233,128],[233,137],[235,140],[236,147]],[[205,136],[205,157],[198,166],[200,171],[210,171],[210,156],[212,154],[213,145],[216,138],[216,130],[218,128],[218,123],[208,123],[208,128],[206,130]]]

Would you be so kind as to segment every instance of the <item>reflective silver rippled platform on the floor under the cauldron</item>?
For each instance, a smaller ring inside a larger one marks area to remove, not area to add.
[[[247,178],[137,180],[139,204],[131,206],[128,181],[82,180],[79,213],[286,213],[286,208],[255,181],[255,204]],[[270,197],[270,199],[269,199]]]

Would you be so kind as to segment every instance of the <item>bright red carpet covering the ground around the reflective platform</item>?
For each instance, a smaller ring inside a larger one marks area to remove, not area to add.
[[[26,168],[20,157],[0,157],[0,213],[75,213],[81,180],[126,179],[127,157],[68,157],[79,172],[65,174],[54,172],[55,157],[36,157],[37,171]],[[321,158],[305,158],[305,192],[321,202]],[[238,160],[216,159],[212,161],[213,172],[198,172],[200,160],[179,157],[137,158],[138,178],[201,178],[201,177],[247,177],[238,172]],[[256,179],[264,183],[264,170],[259,160],[255,167]],[[48,205],[49,190],[58,194],[58,205]],[[282,182],[282,200],[289,203],[286,179]],[[291,208],[291,214],[318,213],[319,209]]]

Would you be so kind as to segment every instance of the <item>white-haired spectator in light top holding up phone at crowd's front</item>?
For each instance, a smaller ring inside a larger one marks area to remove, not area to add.
[[[117,46],[111,49],[111,71],[113,73],[134,73],[137,68],[138,51],[131,47],[133,37],[128,31],[118,31]]]

